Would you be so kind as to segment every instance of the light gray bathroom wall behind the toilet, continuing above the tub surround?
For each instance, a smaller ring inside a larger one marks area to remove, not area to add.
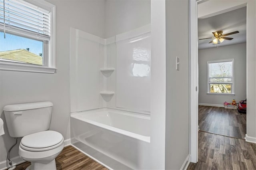
[[[7,151],[14,143],[8,134],[4,113],[5,105],[39,101],[52,101],[50,130],[70,137],[69,95],[69,35],[70,27],[104,37],[104,0],[47,0],[56,5],[56,67],[55,74],[0,70],[0,117],[6,134],[0,136],[0,162],[6,160]],[[20,140],[19,140],[20,141]],[[18,156],[18,145],[10,157]]]

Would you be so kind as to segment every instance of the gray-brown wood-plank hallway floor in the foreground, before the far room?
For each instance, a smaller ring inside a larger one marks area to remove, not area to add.
[[[198,142],[198,162],[188,170],[256,170],[256,144],[207,132]]]

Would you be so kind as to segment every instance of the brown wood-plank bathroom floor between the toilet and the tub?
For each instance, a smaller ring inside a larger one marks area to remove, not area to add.
[[[108,170],[72,146],[65,147],[55,160],[57,170]],[[29,165],[30,162],[24,162],[15,170],[25,170]]]

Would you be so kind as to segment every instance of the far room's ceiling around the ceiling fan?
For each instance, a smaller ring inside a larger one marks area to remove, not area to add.
[[[209,18],[198,18],[198,39],[214,37],[212,32],[222,30],[223,34],[239,31],[227,37],[233,40],[224,40],[220,44],[208,43],[212,39],[198,40],[198,49],[220,47],[246,42],[246,7],[232,10]]]

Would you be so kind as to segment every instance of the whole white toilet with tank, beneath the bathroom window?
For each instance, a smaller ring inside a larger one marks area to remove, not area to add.
[[[56,170],[55,158],[64,147],[64,138],[59,132],[48,130],[52,106],[46,101],[7,105],[3,109],[10,136],[23,137],[19,155],[31,162],[27,169]]]

